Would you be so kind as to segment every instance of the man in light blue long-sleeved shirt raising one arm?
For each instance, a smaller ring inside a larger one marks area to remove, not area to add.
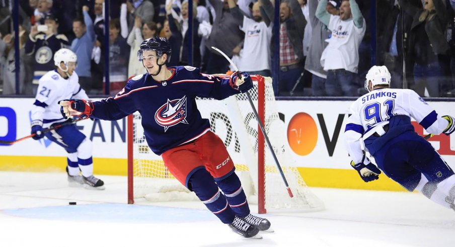
[[[91,58],[95,45],[95,30],[89,16],[89,7],[82,7],[84,19],[76,18],[72,22],[72,31],[76,38],[71,43],[71,50],[78,56],[76,73],[79,75],[79,84],[86,91],[92,89]]]

